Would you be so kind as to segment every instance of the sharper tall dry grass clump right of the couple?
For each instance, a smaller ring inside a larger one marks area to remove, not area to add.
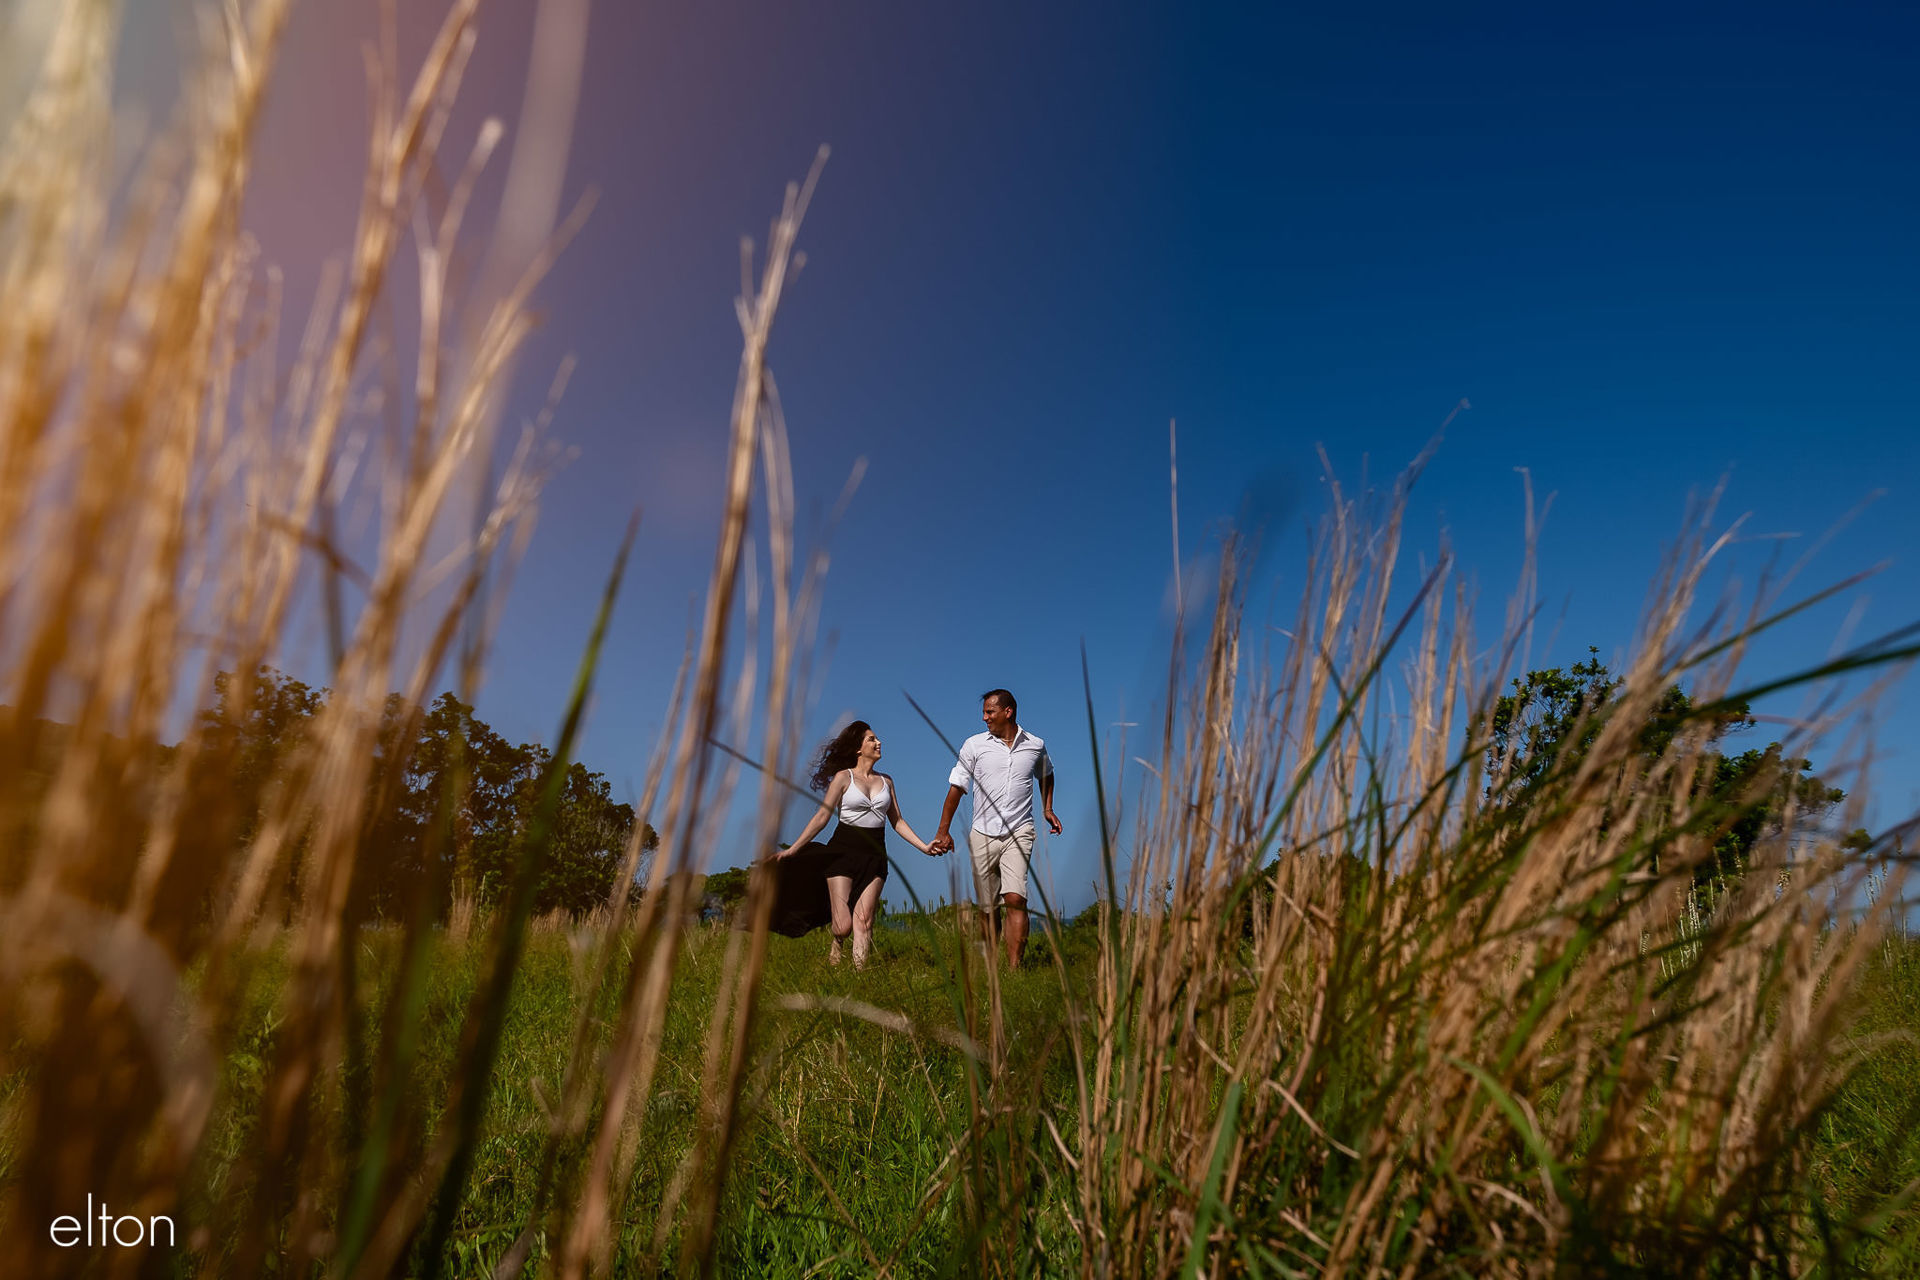
[[[1102,913],[1062,1117],[1077,1132],[1043,1117],[1083,1274],[1903,1267],[1880,1236],[1914,1188],[1849,1217],[1811,1169],[1818,1117],[1872,1050],[1847,1027],[1899,919],[1859,913],[1868,877],[1899,875],[1887,846],[1853,856],[1789,814],[1711,908],[1695,887],[1763,800],[1695,787],[1715,716],[1745,693],[1747,641],[1791,608],[1763,593],[1690,628],[1724,549],[1703,516],[1619,700],[1592,710],[1594,747],[1523,791],[1490,718],[1524,595],[1488,656],[1452,562],[1390,604],[1417,470],[1384,499],[1332,484],[1277,666],[1250,654],[1265,637],[1223,560]],[[1907,660],[1907,639],[1770,687]],[[1693,710],[1649,758],[1682,679]],[[987,1270],[1031,1261],[983,1240]]]

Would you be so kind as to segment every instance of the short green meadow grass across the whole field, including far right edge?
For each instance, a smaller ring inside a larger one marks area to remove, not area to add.
[[[954,1182],[952,1151],[970,1115],[968,1061],[933,1031],[956,1031],[952,973],[956,936],[950,923],[895,917],[876,936],[876,963],[854,973],[829,965],[826,938],[772,938],[764,1015],[756,1029],[756,1065],[747,1086],[747,1123],[733,1163],[720,1232],[724,1276],[866,1276],[876,1261],[893,1274],[968,1274],[966,1180]],[[906,927],[899,927],[899,925]],[[931,923],[931,927],[929,927]],[[1091,975],[1096,938],[1089,927],[1060,935],[1068,981]],[[676,1194],[676,1173],[699,1125],[701,1052],[712,1011],[728,933],[699,927],[674,983],[662,1075],[653,1090],[637,1146],[634,1178],[618,1219],[616,1274],[659,1270],[653,1232],[662,1199]],[[413,1132],[440,1123],[445,1084],[457,1073],[459,1019],[478,983],[484,931],[465,942],[436,938],[432,984],[422,1019],[422,1054],[409,1096],[417,1100]],[[380,1034],[374,1009],[397,958],[396,931],[371,931],[361,948],[363,1057],[372,1059]],[[493,1090],[474,1173],[449,1242],[449,1274],[486,1276],[534,1215],[549,1105],[559,1098],[574,1023],[580,1013],[582,958],[572,933],[536,929],[520,963],[505,1021]],[[1004,975],[1008,1031],[1006,1080],[1039,1088],[1035,1117],[1052,1115],[1071,1142],[1071,1059],[1064,1044],[1066,1000],[1052,942],[1035,935],[1027,967]],[[196,1249],[177,1255],[179,1274],[194,1274],[223,1253],[221,1232],[244,1221],[248,1188],[238,1155],[261,1105],[261,1082],[275,1050],[273,1009],[284,961],[269,952],[253,967],[234,1052],[227,1059],[223,1100],[202,1167],[198,1194],[182,1205],[182,1240],[204,1228]],[[979,979],[975,965],[972,977]],[[1816,1144],[1816,1184],[1826,1209],[1847,1217],[1872,1203],[1899,1203],[1901,1188],[1920,1176],[1920,946],[1889,942],[1862,977],[1866,1009],[1859,1034],[1874,1048],[1824,1119]],[[900,1032],[845,1013],[783,1006],[783,996],[845,998],[900,1013],[914,1032]],[[603,994],[599,1015],[611,1015]],[[972,1029],[985,1034],[985,1029]],[[0,1178],[17,1174],[6,1142],[10,1098],[23,1073],[0,1080]],[[351,1094],[351,1090],[346,1090]],[[1044,1123],[1041,1119],[1041,1123]],[[351,1125],[346,1126],[351,1132]],[[991,1144],[989,1144],[991,1146]],[[1079,1270],[1079,1245],[1068,1211],[1064,1165],[1044,1134],[1021,1144],[1025,1230],[1039,1272]],[[989,1151],[985,1155],[993,1159]],[[1041,1167],[1031,1167],[1041,1165]],[[989,1176],[985,1184],[991,1186]],[[973,1186],[981,1186],[979,1180]],[[1021,1219],[1020,1213],[1014,1215]],[[1002,1224],[1006,1217],[998,1219]],[[1004,1228],[1004,1226],[1002,1226]],[[1910,1213],[1889,1219],[1887,1234],[1907,1247],[1920,1240]],[[666,1257],[672,1259],[668,1240]],[[547,1242],[536,1240],[530,1274],[543,1274]],[[1860,1259],[1880,1263],[1887,1259]],[[670,1261],[668,1261],[670,1265]],[[215,1267],[219,1270],[219,1267]]]

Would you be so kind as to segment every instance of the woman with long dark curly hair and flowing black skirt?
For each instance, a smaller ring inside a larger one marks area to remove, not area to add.
[[[841,938],[852,935],[854,969],[864,969],[874,950],[874,912],[879,910],[879,887],[887,883],[887,823],[922,854],[933,852],[900,818],[893,779],[877,771],[876,764],[879,735],[864,720],[854,720],[822,747],[812,783],[814,791],[826,794],[801,837],[778,854],[781,906],[776,915],[793,917],[795,904],[806,898],[806,883],[816,885],[814,877],[824,871],[833,931],[828,960],[839,963]],[[833,839],[812,844],[831,814],[839,814]]]

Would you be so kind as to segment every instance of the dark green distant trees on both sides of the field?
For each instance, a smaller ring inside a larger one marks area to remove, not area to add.
[[[1488,798],[1503,810],[1521,812],[1549,777],[1578,768],[1615,710],[1620,683],[1597,656],[1515,679],[1511,693],[1494,708],[1484,760]],[[217,676],[213,704],[196,716],[194,725],[219,747],[209,758],[232,762],[232,768],[219,779],[196,781],[188,791],[204,793],[213,785],[238,800],[238,812],[250,818],[232,831],[232,839],[246,842],[255,835],[275,779],[298,768],[300,747],[326,706],[328,691],[261,666],[244,708],[236,695],[238,681],[230,674]],[[1642,756],[1657,760],[1674,725],[1693,716],[1692,699],[1678,687],[1668,689],[1647,714]],[[1778,831],[1789,814],[1799,823],[1818,823],[1845,798],[1841,789],[1811,771],[1811,762],[1784,756],[1778,743],[1740,752],[1716,750],[1726,735],[1755,725],[1745,702],[1718,706],[1713,723],[1713,747],[1695,781],[1697,800],[1718,814],[1715,856],[1695,873],[1703,889],[1713,881],[1738,879],[1755,842]],[[31,741],[31,750],[17,754],[29,762],[29,789],[38,791],[50,785],[71,729],[48,720],[17,723],[12,710],[0,706],[0,735]],[[152,752],[159,773],[171,771],[180,756],[179,747],[163,743],[123,743],[119,748]],[[472,706],[442,693],[426,708],[411,708],[399,695],[390,695],[376,756],[369,781],[372,794],[363,808],[367,829],[361,848],[367,856],[359,860],[353,885],[357,912],[367,919],[397,919],[417,910],[444,917],[455,894],[467,894],[480,906],[495,904],[509,885],[551,752],[540,743],[509,743]],[[1498,796],[1492,794],[1492,779],[1500,779]],[[634,806],[614,802],[605,775],[570,762],[555,829],[538,856],[534,913],[580,915],[607,904],[634,825]],[[1845,844],[1864,846],[1864,835],[1849,833]],[[641,825],[641,848],[657,844],[659,835]],[[282,910],[288,912],[300,896],[300,864],[296,848],[284,881]],[[0,865],[0,881],[13,881],[19,871]],[[745,890],[747,871],[728,867],[708,875],[693,902],[708,917],[730,917]]]

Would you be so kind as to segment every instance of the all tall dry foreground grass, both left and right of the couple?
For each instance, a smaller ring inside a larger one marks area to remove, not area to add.
[[[411,81],[378,63],[348,263],[280,370],[278,280],[236,219],[286,6],[202,17],[186,109],[125,194],[109,169],[113,25],[98,4],[63,10],[0,165],[0,1079],[21,1082],[0,1128],[0,1221],[15,1274],[71,1267],[40,1226],[86,1196],[192,1224],[180,1267],[204,1274],[440,1274],[632,533],[505,902],[474,913],[470,885],[440,883],[459,865],[449,794],[401,929],[382,938],[390,967],[369,973],[374,931],[353,887],[386,852],[374,831],[405,768],[390,743],[411,741],[382,735],[386,695],[420,708],[459,666],[470,699],[484,645],[455,664],[457,641],[484,639],[484,587],[528,528],[551,457],[538,432],[457,555],[428,555],[459,476],[492,455],[528,296],[557,244],[451,338],[447,265],[501,136],[488,125],[451,180],[442,171],[476,38],[476,4],[457,0]],[[745,255],[710,589],[637,806],[659,816],[660,846],[645,862],[636,837],[620,900],[576,933],[568,1067],[543,1102],[532,1205],[499,1276],[710,1272],[724,1244],[764,1067],[764,879],[749,890],[753,927],[724,944],[701,1061],[664,1063],[662,1029],[689,873],[718,829],[703,816],[737,783],[710,745],[758,745],[756,839],[770,846],[799,743],[826,560],[791,537],[766,349],[816,177],[789,190],[756,271]],[[420,342],[386,424],[361,391],[409,234]],[[1592,750],[1523,793],[1515,762],[1486,745],[1524,601],[1507,643],[1482,654],[1450,564],[1400,581],[1411,480],[1380,503],[1334,491],[1273,664],[1267,635],[1242,626],[1242,560],[1223,557],[1212,626],[1175,654],[1152,787],[1127,812],[1100,800],[1096,960],[1091,973],[1058,961],[1066,1013],[1039,1050],[1014,1052],[1000,977],[958,935],[935,936],[952,1027],[837,996],[781,1002],[962,1054],[952,1144],[912,1205],[916,1222],[958,1209],[954,1270],[1803,1274],[1884,1261],[1876,1232],[1905,1197],[1836,1213],[1811,1153],[1870,1050],[1845,1034],[1880,929],[1849,913],[1868,864],[1788,821],[1732,892],[1707,908],[1692,892],[1738,816],[1693,787],[1711,710],[1740,691],[1738,660],[1774,599],[1690,628],[1716,551],[1695,532],[1653,597],[1622,699],[1596,712]],[[376,514],[344,535],[355,499]],[[313,731],[257,789],[236,787],[240,745],[219,725],[163,748],[169,716],[205,704],[217,672],[238,674],[246,714],[250,674],[290,645],[303,601],[332,662]],[[1905,656],[1878,647],[1809,676]],[[1676,679],[1701,714],[1649,758],[1640,729]],[[647,892],[628,900],[643,867]],[[420,1021],[434,904],[449,892],[482,963],[442,1090],[420,1073]],[[213,1151],[223,1063],[257,1032],[261,1004],[273,1031],[253,1113]],[[1050,1082],[1062,1065],[1064,1090]],[[634,1171],[668,1067],[699,1080],[697,1138],[668,1194],[641,1201]],[[1077,1251],[1048,1257],[1033,1226],[1062,1207]],[[904,1267],[864,1257],[876,1272]]]

